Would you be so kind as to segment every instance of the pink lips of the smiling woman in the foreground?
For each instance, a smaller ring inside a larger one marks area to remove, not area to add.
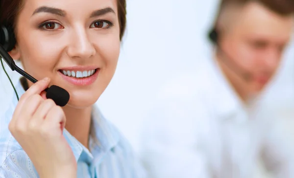
[[[74,70],[74,69],[69,69],[69,70]],[[81,68],[79,67],[77,70],[79,71],[79,70],[81,70]],[[83,70],[87,70],[87,69],[83,69]],[[91,70],[91,69],[88,69],[88,70]],[[93,75],[91,75],[90,77],[87,77],[87,78],[73,78],[73,77],[64,75],[63,73],[60,72],[60,70],[58,70],[58,73],[61,75],[61,77],[64,80],[66,80],[70,84],[73,84],[73,85],[76,85],[76,86],[88,86],[88,85],[93,84],[96,81],[96,79],[98,77],[98,74],[99,74],[99,71],[100,71],[100,68],[96,68],[96,72]]]

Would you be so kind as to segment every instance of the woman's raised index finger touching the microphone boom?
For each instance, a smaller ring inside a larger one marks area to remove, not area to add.
[[[29,89],[25,91],[25,93],[21,96],[19,103],[13,113],[13,117],[19,117],[20,111],[25,105],[27,99],[33,94],[40,94],[44,89],[49,86],[50,79],[45,78],[33,84]]]

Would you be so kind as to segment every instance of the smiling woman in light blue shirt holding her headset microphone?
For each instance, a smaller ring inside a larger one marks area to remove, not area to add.
[[[0,115],[0,178],[139,178],[127,142],[94,104],[114,75],[125,0],[1,0],[9,51],[39,82],[21,78]],[[43,91],[69,91],[61,108]],[[64,129],[65,128],[65,129]]]

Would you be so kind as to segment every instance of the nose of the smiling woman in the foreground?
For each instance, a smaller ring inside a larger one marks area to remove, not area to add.
[[[70,35],[69,41],[67,54],[72,58],[90,58],[96,54],[96,49],[84,28],[76,28]]]

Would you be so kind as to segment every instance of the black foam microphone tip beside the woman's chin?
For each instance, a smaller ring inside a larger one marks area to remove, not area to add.
[[[70,93],[56,85],[52,85],[47,89],[46,97],[52,99],[56,105],[64,107],[70,100]]]

